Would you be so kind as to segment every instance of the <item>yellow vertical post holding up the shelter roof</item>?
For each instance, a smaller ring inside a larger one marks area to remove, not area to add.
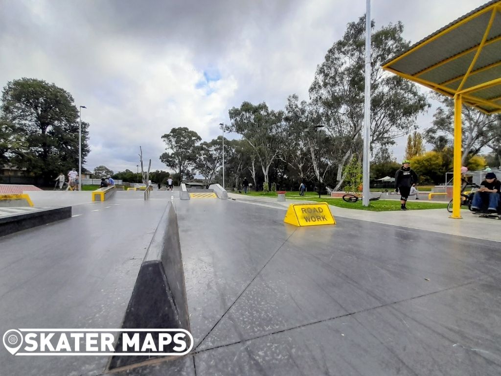
[[[461,124],[462,97],[454,95],[454,175],[452,179],[452,215],[449,218],[461,219]]]

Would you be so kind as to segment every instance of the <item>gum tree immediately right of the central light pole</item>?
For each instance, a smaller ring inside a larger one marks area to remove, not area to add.
[[[231,125],[227,130],[240,134],[254,149],[267,183],[270,166],[281,149],[283,116],[282,111],[270,110],[264,102],[258,105],[243,102],[240,108],[229,110]]]

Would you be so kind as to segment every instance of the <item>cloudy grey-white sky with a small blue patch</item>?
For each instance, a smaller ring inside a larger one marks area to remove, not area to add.
[[[412,43],[487,0],[373,0],[376,27],[402,21]],[[327,50],[364,0],[0,0],[0,86],[21,77],[68,90],[91,124],[86,167],[153,169],[186,126],[218,135],[228,109],[308,99]],[[422,129],[433,109],[419,118]],[[229,136],[230,138],[236,135]],[[405,140],[394,148],[403,156]]]

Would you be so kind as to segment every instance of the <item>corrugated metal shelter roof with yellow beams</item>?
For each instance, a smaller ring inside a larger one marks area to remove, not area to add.
[[[501,112],[501,0],[493,0],[429,35],[383,69],[484,113]]]

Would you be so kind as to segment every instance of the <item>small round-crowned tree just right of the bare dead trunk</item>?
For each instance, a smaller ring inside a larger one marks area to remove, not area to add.
[[[177,173],[174,176],[178,178],[176,185],[179,185],[183,179],[193,176],[191,169],[196,165],[198,151],[196,144],[201,138],[194,130],[179,127],[164,134],[162,140],[167,145],[167,152],[160,155],[160,160]]]

